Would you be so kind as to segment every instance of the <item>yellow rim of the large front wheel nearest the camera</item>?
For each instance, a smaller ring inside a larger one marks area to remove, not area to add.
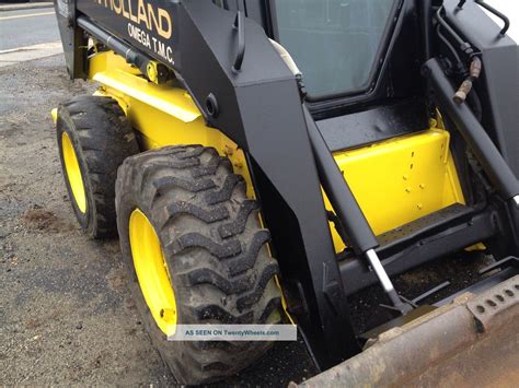
[[[129,238],[140,290],[157,326],[166,336],[176,331],[176,302],[170,272],[155,230],[139,209],[129,220]]]

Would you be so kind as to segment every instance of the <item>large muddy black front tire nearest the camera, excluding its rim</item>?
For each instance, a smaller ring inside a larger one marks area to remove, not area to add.
[[[277,324],[278,264],[267,249],[255,201],[243,178],[211,148],[172,146],[129,157],[116,184],[120,249],[145,326],[181,384],[233,375],[261,357],[269,342],[166,341],[145,302],[128,236],[131,212],[142,211],[169,267],[178,324]]]

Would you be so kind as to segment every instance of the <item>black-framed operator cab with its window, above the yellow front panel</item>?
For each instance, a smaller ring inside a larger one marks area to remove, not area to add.
[[[418,21],[410,2],[215,3],[242,10],[290,52],[303,75],[307,105],[332,152],[428,128]]]

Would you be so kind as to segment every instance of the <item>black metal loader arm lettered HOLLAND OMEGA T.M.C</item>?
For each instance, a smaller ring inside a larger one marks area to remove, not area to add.
[[[153,7],[166,10],[174,26],[166,40],[151,35],[172,48],[174,60],[166,64],[208,125],[249,155],[276,256],[284,257],[284,280],[303,294],[307,310],[295,316],[315,358],[325,368],[356,354],[298,80],[254,21],[240,19],[243,25],[235,27],[237,14],[207,0],[154,1]],[[112,11],[103,4],[79,0],[77,9],[84,14],[83,26],[96,22],[128,35],[127,20],[109,19]],[[241,71],[235,71],[239,28],[244,30],[245,55]],[[163,61],[153,49],[140,49]],[[298,176],[296,184],[289,176]]]

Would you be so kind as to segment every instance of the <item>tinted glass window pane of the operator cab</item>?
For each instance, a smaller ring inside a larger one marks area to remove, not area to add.
[[[312,97],[368,86],[395,0],[276,0],[279,43]]]

